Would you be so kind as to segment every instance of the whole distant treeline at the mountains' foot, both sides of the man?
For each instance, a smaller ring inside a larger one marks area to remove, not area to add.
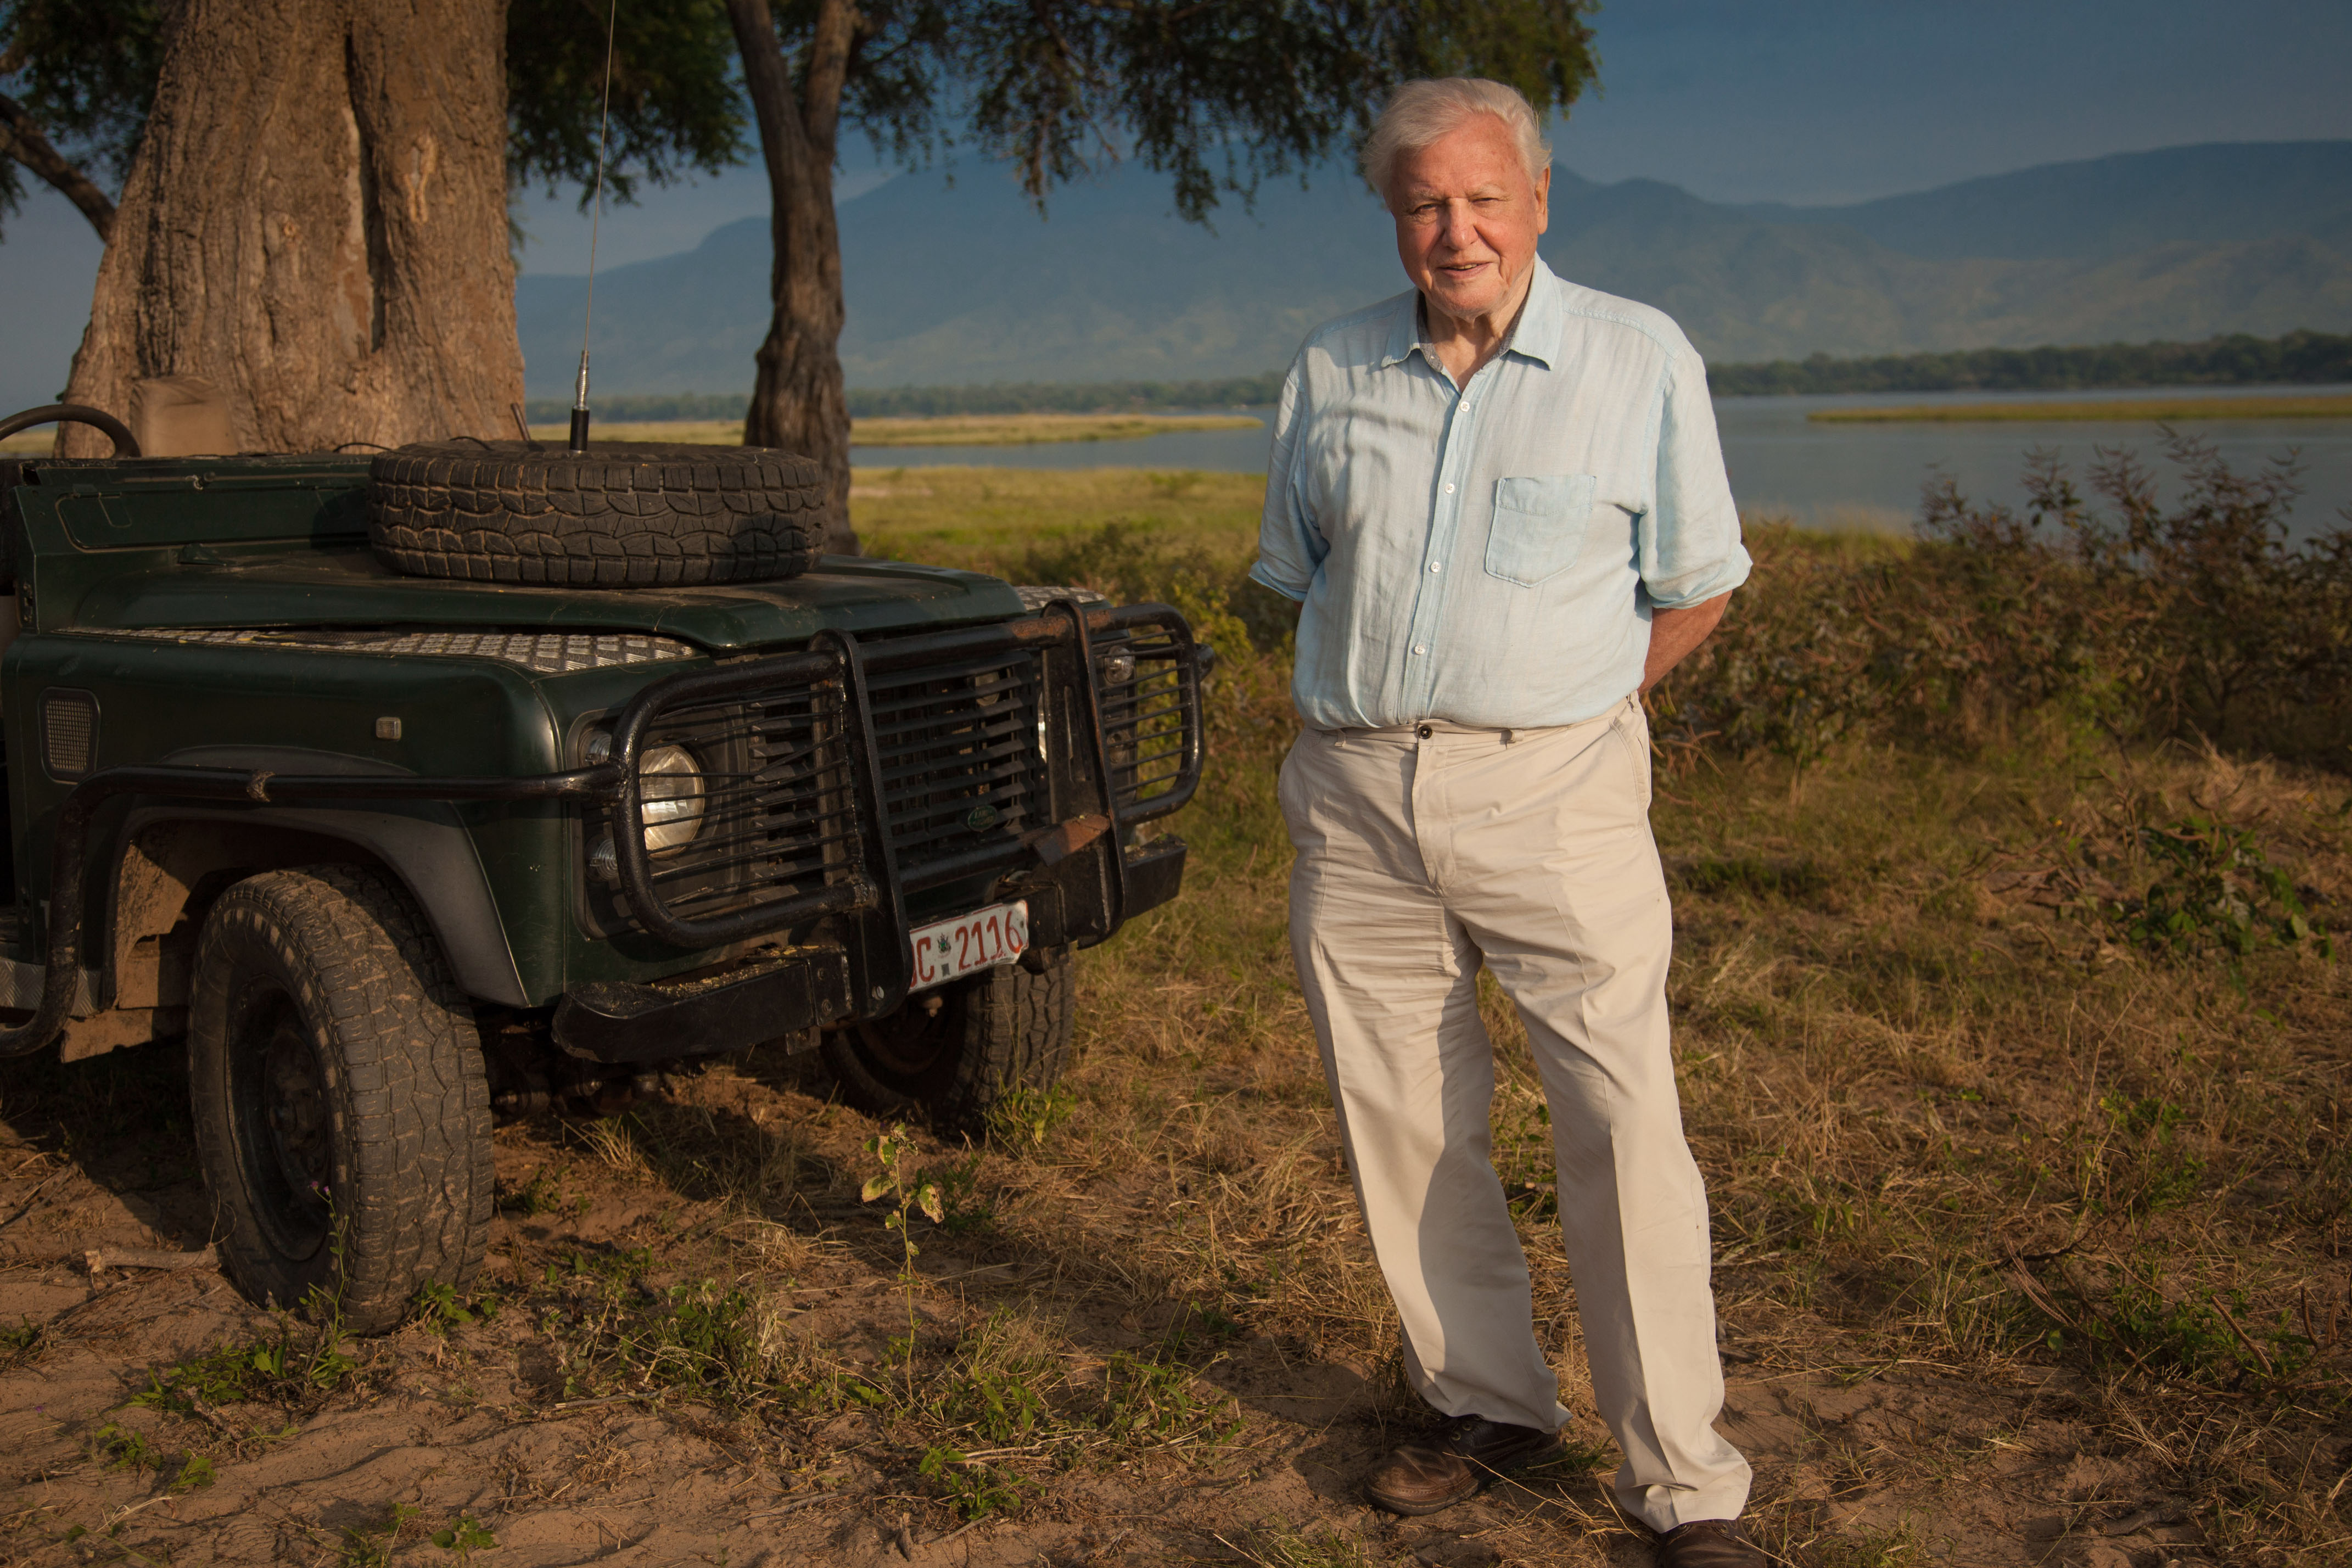
[[[2352,381],[2352,336],[2288,331],[2284,339],[2227,336],[2204,343],[2100,343],[2096,348],[1964,348],[1877,360],[1773,360],[1717,364],[1717,397],[1769,393],[2042,393],[2119,386],[2263,386]],[[1124,414],[1145,409],[1263,409],[1282,393],[1282,371],[1223,381],[997,381],[990,386],[849,388],[851,418],[927,414]],[[597,397],[604,421],[743,418],[743,393]],[[560,423],[569,402],[524,404],[532,423]]]

